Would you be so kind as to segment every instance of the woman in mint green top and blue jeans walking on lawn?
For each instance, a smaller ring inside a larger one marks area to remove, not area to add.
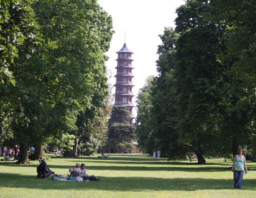
[[[245,168],[245,172],[248,173],[247,166],[246,166],[246,160],[244,157],[244,149],[239,148],[238,155],[235,155],[234,162],[233,162],[233,165],[231,168],[231,170],[234,172],[234,181],[235,181],[234,188],[235,189],[242,188],[244,168]]]

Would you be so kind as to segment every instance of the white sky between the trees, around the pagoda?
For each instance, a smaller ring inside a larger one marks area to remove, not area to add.
[[[149,75],[158,75],[156,72],[156,60],[158,59],[158,45],[162,43],[158,35],[164,33],[164,27],[175,27],[174,20],[177,17],[175,10],[184,4],[184,0],[98,0],[98,4],[113,19],[113,34],[109,51],[106,55],[109,60],[106,66],[112,72],[110,83],[115,84],[113,77],[117,70],[117,54],[124,44],[124,32],[126,31],[126,45],[134,52],[132,54],[132,88],[133,104],[136,105],[136,97],[139,88],[145,84]],[[113,88],[113,93],[115,92]],[[136,108],[133,108],[134,116],[137,116]]]

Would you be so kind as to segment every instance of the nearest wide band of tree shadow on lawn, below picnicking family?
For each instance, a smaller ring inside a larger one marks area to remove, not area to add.
[[[232,179],[202,179],[155,177],[101,177],[100,181],[62,182],[50,179],[35,179],[32,175],[1,174],[0,186],[5,188],[31,188],[42,190],[81,190],[94,189],[104,191],[138,191],[138,190],[222,190],[233,189]],[[54,183],[52,183],[52,181]],[[244,179],[243,190],[256,190],[256,179]]]

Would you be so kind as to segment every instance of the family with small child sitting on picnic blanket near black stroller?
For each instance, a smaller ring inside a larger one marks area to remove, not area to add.
[[[85,181],[85,180],[95,180],[99,181],[100,177],[95,177],[94,175],[89,176],[86,173],[85,164],[76,163],[76,167],[74,169],[70,168],[68,174],[68,180],[70,181]]]

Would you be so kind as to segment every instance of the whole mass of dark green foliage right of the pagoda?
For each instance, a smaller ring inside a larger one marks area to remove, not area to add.
[[[255,2],[187,0],[177,16],[175,30],[160,35],[160,75],[139,96],[139,143],[170,158],[195,152],[199,163],[203,154],[253,149]]]

